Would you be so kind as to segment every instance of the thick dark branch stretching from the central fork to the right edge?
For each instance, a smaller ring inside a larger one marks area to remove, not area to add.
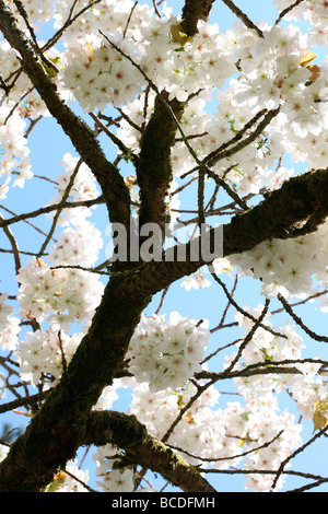
[[[328,170],[292,177],[280,189],[268,194],[258,206],[223,225],[223,256],[241,254],[272,238],[286,240],[315,232],[328,217],[327,191]],[[214,238],[220,237],[220,229],[211,229],[208,234],[208,254],[213,258],[222,257],[214,253]],[[199,258],[192,259],[190,248],[196,247]],[[121,282],[119,287],[125,288],[126,293],[130,290],[130,294],[134,291],[142,295],[155,294],[206,264],[208,260],[202,256],[199,237],[191,244],[166,252],[161,261],[144,265],[129,277],[128,283]]]

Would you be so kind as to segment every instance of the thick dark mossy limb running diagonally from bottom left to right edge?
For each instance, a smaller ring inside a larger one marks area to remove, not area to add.
[[[316,230],[328,215],[327,190],[328,170],[291,178],[224,226],[224,255]],[[297,223],[305,225],[298,229]],[[115,376],[152,294],[204,264],[201,256],[194,261],[187,253],[186,259],[150,262],[136,272],[112,277],[67,373],[0,464],[1,492],[38,491],[74,457],[83,444],[85,416]]]

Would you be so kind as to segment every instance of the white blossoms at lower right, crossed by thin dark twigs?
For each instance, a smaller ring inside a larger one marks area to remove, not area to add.
[[[258,318],[262,308],[263,306],[259,305],[256,309],[246,307],[244,311],[253,315],[253,318]],[[236,320],[246,331],[249,331],[255,323],[241,313],[236,314]],[[327,402],[328,384],[325,376],[319,373],[320,360],[318,358],[317,363],[315,359],[311,362],[302,361],[302,350],[305,348],[303,339],[295,332],[293,326],[288,323],[284,328],[272,326],[267,315],[262,326],[257,328],[243,350],[242,358],[236,365],[239,370],[245,370],[248,365],[256,363],[267,365],[272,363],[271,374],[235,378],[236,388],[246,400],[247,423],[244,442],[247,442],[247,449],[254,448],[259,443],[265,444],[270,437],[274,439],[273,427],[277,429],[276,434],[283,431],[268,447],[247,456],[246,469],[279,469],[280,463],[302,443],[300,436],[302,425],[294,422],[294,416],[286,409],[278,416],[280,393],[289,390],[297,410],[306,420],[314,421],[318,401],[323,405]],[[235,355],[231,355],[226,360],[226,366],[234,358]],[[276,367],[277,364],[279,367]],[[284,373],[284,367],[293,365],[296,372]],[[254,490],[270,490],[272,478],[270,475],[255,474],[249,477],[246,487]]]

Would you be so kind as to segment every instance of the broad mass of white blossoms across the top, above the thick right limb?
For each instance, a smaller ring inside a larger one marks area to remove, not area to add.
[[[67,2],[60,2],[63,4]],[[110,16],[101,16],[107,10]],[[181,45],[172,36],[179,20],[167,9],[165,15],[153,16],[147,5],[132,10],[129,1],[119,10],[112,0],[104,2],[102,11],[94,5],[80,26],[74,24],[65,34],[68,51],[61,59],[59,90],[68,89],[85,112],[121,105],[126,116],[117,133],[134,153],[141,137],[136,127],[141,128],[153,109],[154,90],[142,92],[148,81],[160,90],[165,87],[171,98],[184,101],[195,95],[180,125],[186,137],[196,131],[200,135],[190,141],[199,159],[226,144],[263,106],[271,109],[281,104],[270,130],[236,152],[233,170],[225,157],[212,166],[243,195],[257,194],[266,183],[269,188],[278,187],[294,173],[283,166],[272,171],[282,153],[291,153],[295,162],[320,165],[326,154],[326,104],[317,100],[325,94],[327,67],[324,63],[309,84],[312,71],[304,65],[309,46],[306,35],[293,25],[266,25],[259,37],[242,24],[225,34],[218,25],[201,24],[199,33]],[[92,31],[94,26],[105,37]],[[238,80],[234,79],[236,62]],[[212,91],[227,78],[232,79],[225,92],[216,94],[218,113],[209,115],[206,106]],[[305,140],[308,132],[315,137],[311,143],[316,145],[315,152],[309,139]],[[192,168],[194,159],[184,141],[176,142],[172,157],[176,176]]]

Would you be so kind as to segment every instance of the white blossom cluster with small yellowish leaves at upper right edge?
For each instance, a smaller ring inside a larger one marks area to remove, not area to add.
[[[308,34],[293,24],[265,26],[262,34],[259,38],[243,27],[232,32],[242,70],[238,80],[230,82],[232,103],[238,109],[247,105],[254,114],[262,106],[279,107],[268,127],[270,153],[325,166],[327,60],[320,62],[308,51]]]

